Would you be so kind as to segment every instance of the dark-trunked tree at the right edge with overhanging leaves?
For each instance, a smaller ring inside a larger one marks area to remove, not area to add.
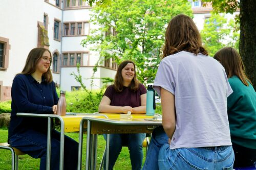
[[[256,89],[256,1],[255,0],[202,0],[210,2],[216,12],[233,13],[240,9],[239,53],[244,61],[246,74]]]

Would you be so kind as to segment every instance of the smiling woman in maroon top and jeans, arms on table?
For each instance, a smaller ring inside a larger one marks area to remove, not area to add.
[[[127,113],[128,111],[137,114],[146,112],[146,88],[136,78],[134,62],[126,60],[117,69],[114,85],[106,89],[99,104],[99,112]],[[113,169],[124,144],[130,151],[132,169],[141,169],[144,138],[144,133],[111,134],[109,169]]]

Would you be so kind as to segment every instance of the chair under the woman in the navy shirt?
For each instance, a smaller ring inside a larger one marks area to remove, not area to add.
[[[26,154],[16,148],[11,147],[10,144],[8,144],[7,142],[0,143],[0,149],[6,149],[6,150],[11,151],[11,153],[12,153],[12,170],[18,170],[18,156],[26,155]]]

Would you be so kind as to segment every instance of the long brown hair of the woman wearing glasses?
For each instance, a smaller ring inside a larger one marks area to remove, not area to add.
[[[35,70],[36,70],[37,63],[39,62],[39,60],[41,59],[42,55],[44,55],[45,52],[50,53],[50,57],[51,57],[51,60],[52,60],[52,54],[48,49],[41,48],[41,47],[33,48],[29,52],[29,55],[28,55],[27,60],[26,60],[26,64],[25,64],[25,66],[24,66],[24,68],[23,68],[23,70],[20,74],[31,75],[32,73],[34,73]],[[50,64],[50,66],[51,66],[51,64]],[[42,74],[42,77],[45,78],[47,83],[52,82],[52,72],[51,72],[50,67],[48,68],[47,72]]]

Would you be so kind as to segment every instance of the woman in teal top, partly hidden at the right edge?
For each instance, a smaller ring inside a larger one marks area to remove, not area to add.
[[[233,93],[227,98],[228,120],[234,166],[249,166],[256,161],[256,93],[245,75],[239,53],[232,47],[224,47],[214,58],[225,68]]]

